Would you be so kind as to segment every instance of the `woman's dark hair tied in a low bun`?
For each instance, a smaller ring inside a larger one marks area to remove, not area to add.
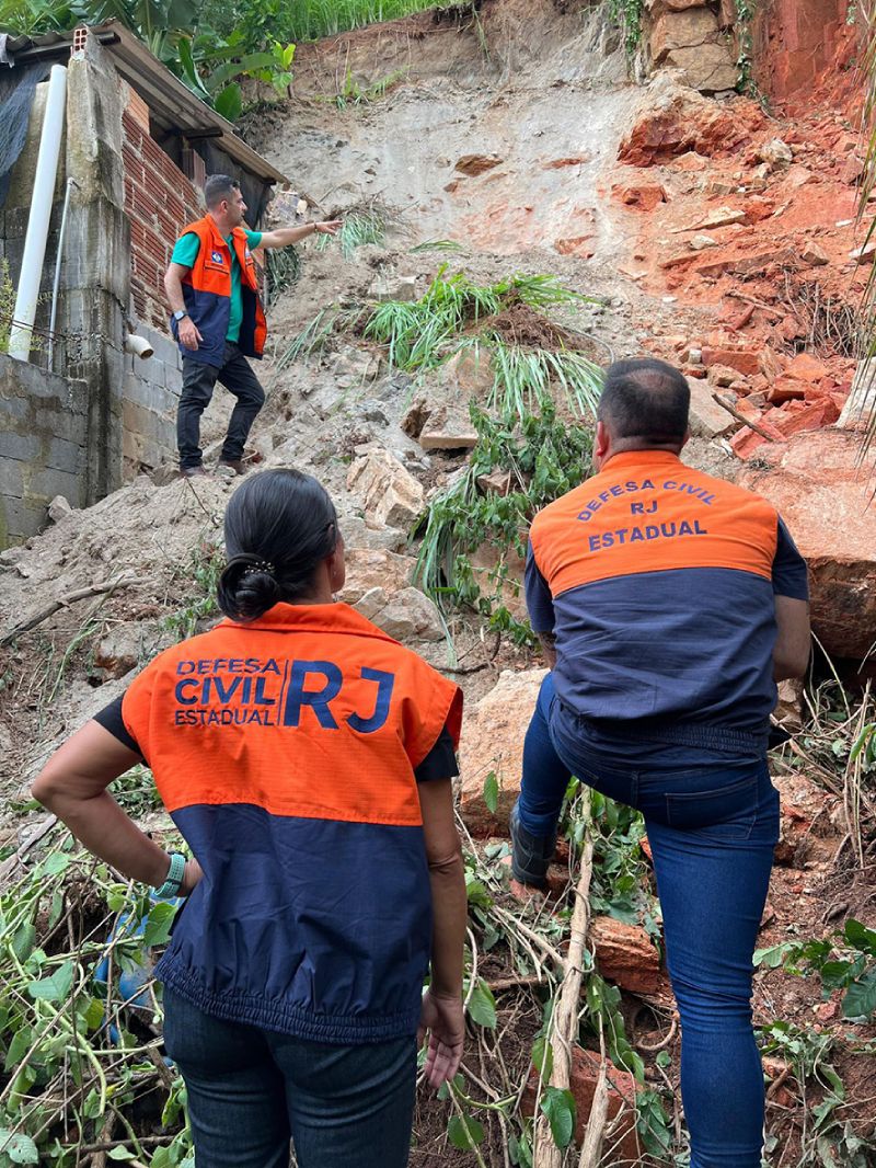
[[[218,605],[232,620],[257,620],[280,600],[307,596],[338,544],[338,516],[325,488],[300,471],[262,471],[225,509],[228,564]]]

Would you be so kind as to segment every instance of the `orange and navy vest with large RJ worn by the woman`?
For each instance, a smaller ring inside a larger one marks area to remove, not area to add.
[[[204,878],[157,969],[207,1013],[312,1041],[413,1033],[431,947],[415,769],[461,693],[345,604],[167,649],[123,718]]]

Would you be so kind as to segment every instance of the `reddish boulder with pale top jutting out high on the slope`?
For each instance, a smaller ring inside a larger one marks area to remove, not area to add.
[[[746,98],[717,104],[666,74],[658,75],[647,88],[633,128],[620,144],[618,160],[652,166],[688,151],[723,155],[764,124],[763,111]]]

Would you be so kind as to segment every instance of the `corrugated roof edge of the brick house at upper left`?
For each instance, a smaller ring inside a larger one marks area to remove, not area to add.
[[[119,76],[137,90],[164,130],[192,140],[213,138],[229,158],[264,182],[290,181],[238,138],[230,121],[195,97],[142,41],[118,21],[90,25],[89,33],[112,54]],[[13,64],[46,58],[64,61],[70,55],[72,40],[72,32],[46,33],[34,37],[11,36],[6,42],[6,55]]]

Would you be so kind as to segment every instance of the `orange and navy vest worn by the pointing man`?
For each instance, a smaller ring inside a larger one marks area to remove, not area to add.
[[[224,364],[228,321],[231,315],[231,251],[220,234],[211,215],[189,223],[182,235],[200,239],[194,266],[182,278],[182,296],[192,320],[201,333],[197,349],[180,346],[183,356],[204,364]],[[244,356],[260,360],[267,336],[267,325],[258,297],[258,272],[246,243],[246,232],[236,227],[231,231],[235,256],[241,265],[241,297],[243,319],[237,345]],[[179,341],[176,321],[171,317],[171,329]]]

